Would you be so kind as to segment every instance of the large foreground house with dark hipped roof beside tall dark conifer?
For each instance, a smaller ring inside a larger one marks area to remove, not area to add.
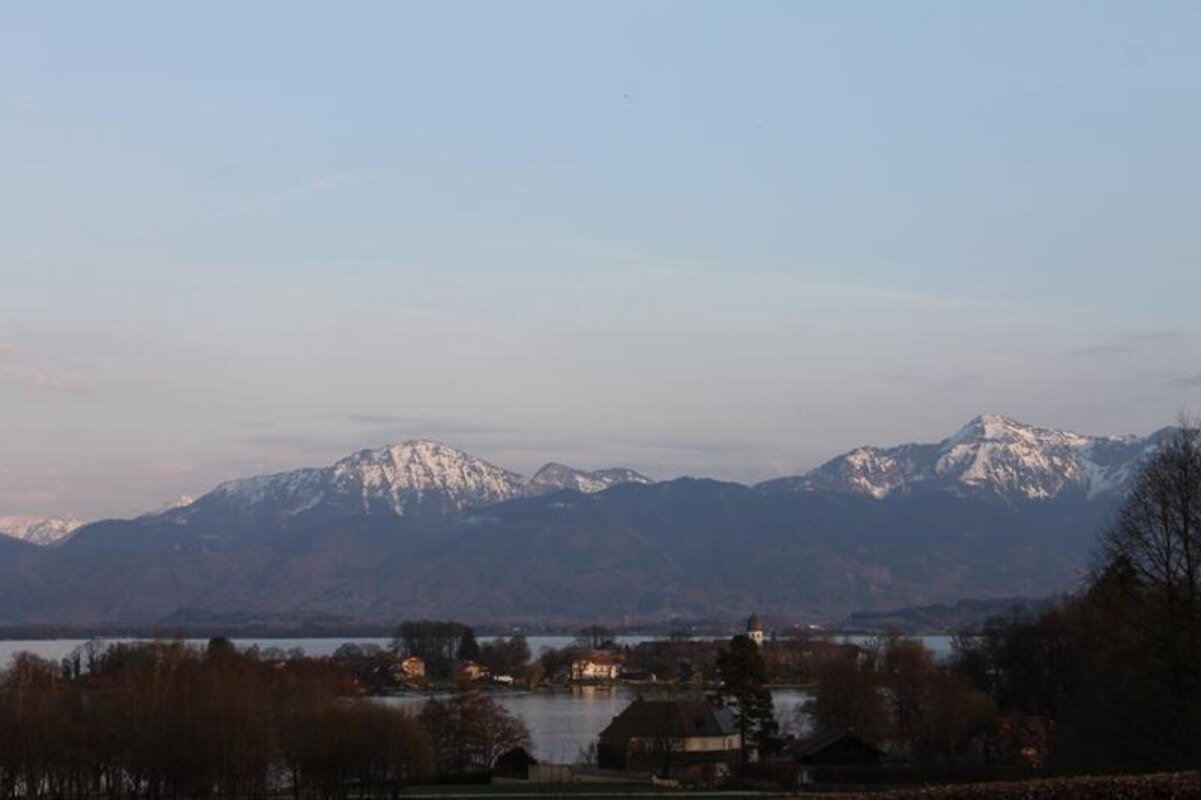
[[[650,770],[679,775],[705,765],[711,775],[729,774],[742,752],[734,714],[713,700],[635,699],[600,732],[600,769]]]

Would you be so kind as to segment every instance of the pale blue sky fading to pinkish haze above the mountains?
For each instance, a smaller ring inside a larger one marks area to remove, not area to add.
[[[1201,408],[1201,4],[0,2],[0,514]]]

